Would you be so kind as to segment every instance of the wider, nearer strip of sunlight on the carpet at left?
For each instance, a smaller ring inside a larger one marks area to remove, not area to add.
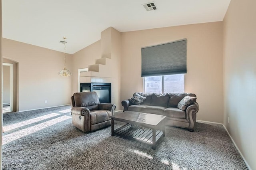
[[[12,142],[14,140],[17,140],[19,138],[22,138],[22,137],[24,137],[24,136],[26,136],[28,134],[37,132],[38,130],[42,130],[42,129],[46,128],[46,127],[55,125],[55,124],[60,123],[62,121],[66,121],[68,119],[71,119],[71,117],[69,117],[69,116],[62,116],[62,117],[58,117],[56,119],[52,119],[50,121],[46,121],[44,123],[40,123],[38,125],[34,125],[32,127],[24,128],[24,129],[18,130],[16,132],[13,132],[13,133],[10,133],[10,134],[6,134],[6,135],[3,136],[3,145],[7,144],[9,142]]]

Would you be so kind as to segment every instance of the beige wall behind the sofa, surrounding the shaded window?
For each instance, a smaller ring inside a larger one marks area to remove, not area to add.
[[[122,32],[121,100],[143,91],[141,47],[187,39],[185,92],[195,93],[197,119],[223,122],[222,22]]]

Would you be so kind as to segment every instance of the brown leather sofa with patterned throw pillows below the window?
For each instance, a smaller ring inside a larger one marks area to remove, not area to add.
[[[194,131],[198,103],[193,93],[134,93],[122,101],[124,111],[136,111],[166,116],[166,125]]]

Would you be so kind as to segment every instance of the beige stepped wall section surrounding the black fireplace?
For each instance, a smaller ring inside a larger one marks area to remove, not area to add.
[[[73,54],[72,93],[78,91],[78,69],[96,64],[96,59],[106,57],[106,64],[100,64],[98,72],[90,71],[84,75],[92,82],[96,78],[111,83],[111,102],[120,109],[120,43],[121,33],[110,27],[101,32],[101,40]],[[96,67],[97,65],[95,65]],[[95,69],[97,70],[97,69]],[[96,81],[98,82],[98,81]]]

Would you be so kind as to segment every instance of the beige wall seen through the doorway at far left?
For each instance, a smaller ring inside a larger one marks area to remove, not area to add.
[[[10,103],[10,66],[3,65],[3,104]]]

